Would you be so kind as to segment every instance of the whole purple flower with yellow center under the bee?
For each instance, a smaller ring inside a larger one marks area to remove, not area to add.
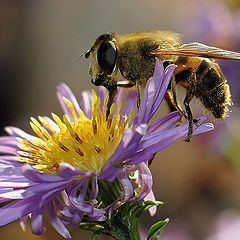
[[[32,232],[42,234],[45,211],[53,227],[70,238],[66,226],[79,225],[83,217],[105,221],[129,200],[153,199],[148,160],[188,132],[188,124],[173,127],[181,119],[178,112],[147,125],[174,69],[170,65],[164,72],[157,61],[136,116],[133,91],[122,110],[120,91],[106,117],[108,95],[102,88],[98,95],[83,92],[80,108],[71,90],[61,84],[57,96],[65,113],[63,121],[55,114],[54,121],[31,118],[36,136],[6,128],[10,136],[0,138],[4,154],[0,157],[0,201],[11,202],[0,209],[0,225],[20,219],[24,226],[30,216]],[[193,134],[213,129],[212,124],[202,122],[203,118]],[[135,172],[137,182],[131,178]],[[119,191],[114,184],[119,184]],[[111,194],[107,194],[109,187]]]

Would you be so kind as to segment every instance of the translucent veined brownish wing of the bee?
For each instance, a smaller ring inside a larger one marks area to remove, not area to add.
[[[174,48],[159,48],[151,52],[153,55],[179,55],[186,57],[206,57],[240,60],[240,53],[224,50],[221,48],[210,47],[202,43],[194,42],[183,44]]]

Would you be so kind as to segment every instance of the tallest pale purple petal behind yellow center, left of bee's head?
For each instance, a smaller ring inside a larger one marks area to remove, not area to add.
[[[80,107],[79,107],[78,102],[77,102],[75,96],[73,95],[72,91],[66,84],[61,83],[60,85],[57,86],[57,97],[62,106],[64,113],[70,117],[71,121],[74,121],[74,117],[73,117],[71,111],[69,110],[69,108],[67,107],[66,102],[63,100],[63,97],[67,98],[72,103],[73,108],[76,112],[76,115],[79,118],[78,112],[80,110]]]

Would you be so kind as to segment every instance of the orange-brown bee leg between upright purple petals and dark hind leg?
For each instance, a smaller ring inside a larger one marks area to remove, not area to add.
[[[167,90],[166,92],[167,95],[165,95],[165,99],[167,100],[170,110],[172,105],[184,118],[188,119],[188,115],[185,112],[183,112],[177,100],[177,87],[176,87],[176,79],[174,75],[172,76],[172,79],[171,79],[171,91],[172,93]],[[169,104],[169,102],[171,105]]]

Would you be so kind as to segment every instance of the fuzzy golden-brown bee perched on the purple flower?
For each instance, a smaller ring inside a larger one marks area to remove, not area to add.
[[[165,94],[170,111],[188,120],[186,141],[190,141],[193,124],[197,124],[190,107],[193,97],[216,119],[225,118],[231,103],[229,85],[214,58],[240,60],[240,54],[198,42],[183,44],[180,34],[171,31],[131,32],[119,35],[106,33],[99,36],[85,57],[92,56],[89,74],[92,83],[109,91],[108,108],[117,94],[117,87],[136,86],[137,106],[141,101],[141,89],[153,76],[156,59],[166,68],[176,64],[171,82]],[[118,72],[123,81],[118,81]],[[186,89],[182,110],[177,98],[176,86]]]

